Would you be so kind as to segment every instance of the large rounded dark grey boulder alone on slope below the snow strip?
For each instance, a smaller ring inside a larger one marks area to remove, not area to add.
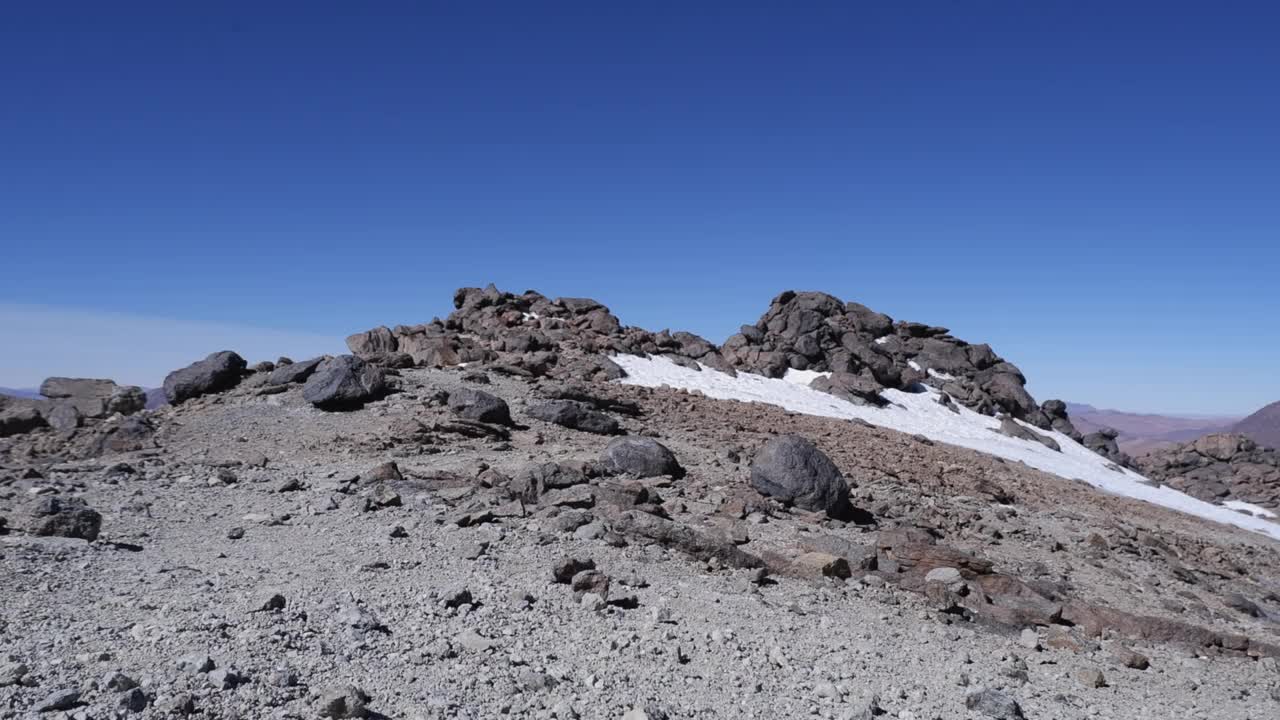
[[[755,454],[751,487],[803,510],[837,519],[851,514],[845,477],[826,454],[800,436],[773,438]]]

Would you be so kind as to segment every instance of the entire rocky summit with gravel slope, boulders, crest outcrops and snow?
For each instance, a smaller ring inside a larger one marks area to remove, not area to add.
[[[156,409],[0,400],[0,717],[1280,715],[1245,437],[1132,460],[989,346],[817,292],[721,346],[453,306],[193,357]]]

